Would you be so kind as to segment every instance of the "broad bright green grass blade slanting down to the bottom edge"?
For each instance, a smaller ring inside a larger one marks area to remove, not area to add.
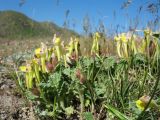
[[[115,108],[113,108],[110,105],[104,105],[113,115],[115,115],[116,117],[118,117],[120,120],[133,120],[132,118],[128,118],[126,115],[124,115],[123,113],[119,112],[118,110],[116,110]]]

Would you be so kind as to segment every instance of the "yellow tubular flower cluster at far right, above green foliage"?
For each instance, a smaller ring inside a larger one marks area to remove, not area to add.
[[[148,57],[158,54],[158,39],[154,37],[151,30],[144,30],[144,39],[140,40],[136,35],[122,33],[114,37],[117,43],[117,53],[119,57],[128,58],[130,55],[141,53]],[[139,41],[136,41],[139,39]],[[140,43],[137,45],[137,43]]]

